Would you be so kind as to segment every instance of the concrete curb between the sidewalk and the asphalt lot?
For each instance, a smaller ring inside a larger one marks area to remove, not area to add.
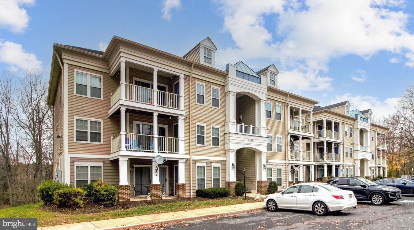
[[[125,228],[146,228],[146,227],[152,227],[152,225],[162,225],[162,224],[171,224],[171,223],[178,223],[180,221],[191,221],[191,220],[199,220],[202,218],[209,218],[214,216],[232,216],[237,214],[243,214],[243,213],[249,213],[254,211],[260,211],[264,210],[266,208],[251,208],[246,210],[240,210],[240,211],[230,211],[225,213],[214,213],[214,214],[208,214],[208,215],[202,215],[202,216],[192,216],[192,217],[181,217],[181,218],[175,218],[171,220],[157,220],[152,222],[145,222],[145,223],[138,223],[138,224],[132,224],[132,225],[123,225],[118,226],[115,228],[100,228],[99,230],[124,230]]]

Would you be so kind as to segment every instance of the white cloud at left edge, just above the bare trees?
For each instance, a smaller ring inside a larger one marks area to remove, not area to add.
[[[10,41],[0,42],[0,62],[9,65],[11,71],[17,69],[42,69],[42,62],[36,55],[27,53],[22,45]]]

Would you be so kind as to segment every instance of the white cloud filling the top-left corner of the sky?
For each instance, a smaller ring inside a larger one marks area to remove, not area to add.
[[[30,6],[34,0],[0,0],[0,28],[13,33],[23,33],[29,26],[30,17],[23,5]]]

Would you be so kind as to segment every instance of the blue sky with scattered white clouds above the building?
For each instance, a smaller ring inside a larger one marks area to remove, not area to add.
[[[116,35],[182,56],[209,36],[220,69],[274,63],[281,89],[383,116],[412,82],[413,15],[404,0],[0,0],[0,69],[48,78],[53,43],[99,50]]]

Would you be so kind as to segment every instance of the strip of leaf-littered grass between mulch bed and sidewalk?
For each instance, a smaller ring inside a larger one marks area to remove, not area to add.
[[[145,201],[141,201],[145,202]],[[249,202],[249,201],[247,201]],[[251,201],[250,201],[251,202]],[[93,220],[106,220],[113,218],[141,216],[154,213],[165,213],[173,211],[191,210],[196,208],[208,208],[216,206],[225,206],[232,204],[246,203],[244,199],[230,197],[228,199],[208,199],[197,200],[188,199],[185,201],[170,202],[166,204],[154,204],[149,206],[136,206],[124,210],[104,211],[90,214],[65,214],[55,213],[52,211],[43,211],[41,206],[43,203],[29,204],[24,206],[17,206],[12,208],[0,209],[0,218],[12,217],[37,217],[38,227],[60,225],[69,223],[78,223]]]

